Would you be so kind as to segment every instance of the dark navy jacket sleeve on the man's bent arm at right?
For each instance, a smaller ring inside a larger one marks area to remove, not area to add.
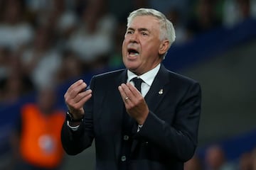
[[[152,142],[170,157],[186,162],[193,157],[196,149],[200,113],[201,87],[193,83],[178,102],[172,123],[149,111],[136,137]],[[169,114],[168,111],[166,114]]]

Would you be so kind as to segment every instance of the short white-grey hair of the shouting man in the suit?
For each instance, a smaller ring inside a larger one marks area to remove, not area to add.
[[[164,16],[164,13],[156,11],[152,8],[139,8],[129,14],[127,18],[127,27],[130,25],[130,23],[136,16],[154,16],[155,18],[157,18],[160,24],[159,39],[169,40],[169,47],[171,47],[171,44],[174,42],[176,38],[175,30],[171,21],[169,21],[169,19],[167,19],[166,16]],[[166,53],[164,54],[163,58],[166,56]]]

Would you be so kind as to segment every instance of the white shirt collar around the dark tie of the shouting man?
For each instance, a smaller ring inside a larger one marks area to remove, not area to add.
[[[144,74],[140,75],[139,78],[141,78],[145,84],[151,86],[151,84],[154,81],[154,78],[156,77],[157,72],[159,72],[160,69],[160,63],[154,67],[154,69],[149,70],[148,72],[145,72]],[[138,77],[136,74],[133,72],[129,71],[127,69],[127,82],[131,81],[134,77]]]

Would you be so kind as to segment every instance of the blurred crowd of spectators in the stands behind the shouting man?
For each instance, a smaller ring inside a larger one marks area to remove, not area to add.
[[[126,18],[156,8],[176,44],[256,16],[255,0],[0,0],[0,103],[104,67],[122,66]]]

